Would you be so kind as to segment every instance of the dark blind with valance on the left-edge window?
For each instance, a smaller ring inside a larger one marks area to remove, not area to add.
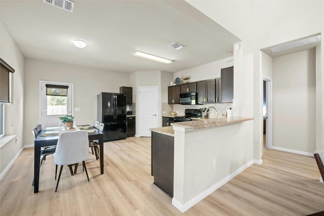
[[[9,103],[10,72],[13,73],[15,70],[0,58],[0,103]]]

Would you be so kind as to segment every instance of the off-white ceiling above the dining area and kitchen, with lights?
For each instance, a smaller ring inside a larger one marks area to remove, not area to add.
[[[25,58],[107,71],[177,72],[233,56],[235,35],[185,1],[74,1],[73,12],[37,1],[0,1],[1,22]],[[87,42],[80,49],[74,39]],[[186,47],[168,47],[179,42]],[[174,60],[163,64],[135,51]]]

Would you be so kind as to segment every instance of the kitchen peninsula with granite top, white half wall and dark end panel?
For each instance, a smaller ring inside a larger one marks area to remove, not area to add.
[[[254,163],[253,149],[235,142],[247,136],[242,125],[249,120],[253,118],[208,118],[151,128],[154,184],[182,212],[204,199]]]

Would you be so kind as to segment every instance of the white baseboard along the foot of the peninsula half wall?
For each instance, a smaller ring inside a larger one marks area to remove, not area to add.
[[[255,160],[251,160],[248,163],[242,165],[241,167],[236,169],[234,172],[232,172],[230,175],[228,175],[227,177],[225,177],[221,181],[217,182],[215,185],[211,186],[207,190],[201,192],[197,196],[193,197],[192,199],[190,199],[188,202],[186,202],[184,204],[182,204],[180,201],[178,201],[177,199],[175,199],[173,197],[172,198],[172,204],[183,213],[186,210],[188,210],[189,208],[191,208],[192,206],[194,206],[196,203],[198,203],[199,201],[203,200],[205,197],[207,197],[208,195],[210,195],[211,193],[216,191],[218,188],[225,185],[227,182],[229,182],[235,176],[240,174],[240,172],[244,171],[246,168],[248,168],[249,166],[251,166],[254,163],[255,163]]]

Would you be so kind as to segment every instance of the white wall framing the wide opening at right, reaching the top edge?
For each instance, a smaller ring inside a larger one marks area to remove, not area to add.
[[[262,148],[262,73],[260,50],[283,42],[302,38],[308,35],[321,33],[323,41],[324,32],[324,2],[323,1],[187,1],[193,7],[203,12],[228,31],[242,39],[244,46],[243,71],[244,77],[253,74],[253,80],[245,79],[242,83],[235,83],[242,87],[245,94],[250,94],[253,87],[253,94],[249,95],[252,101],[244,101],[243,112],[251,109],[253,111],[254,126],[251,133],[254,135],[254,157],[261,159]],[[324,43],[321,42],[321,53],[323,56]],[[323,58],[319,57],[321,63]],[[253,64],[248,69],[247,65]],[[234,60],[235,65],[235,60]],[[324,65],[320,65],[321,86],[320,92],[324,90]],[[235,71],[234,71],[235,76]],[[234,95],[236,90],[234,88]],[[246,103],[247,102],[247,103]],[[321,95],[321,114],[317,117],[322,119],[320,131],[324,132],[324,96]],[[251,106],[252,105],[252,106]],[[324,136],[320,144],[324,149]]]

